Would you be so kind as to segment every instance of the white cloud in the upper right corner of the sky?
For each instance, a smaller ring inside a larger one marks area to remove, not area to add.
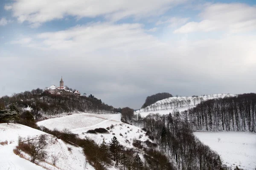
[[[189,22],[174,33],[195,31],[228,31],[240,33],[256,30],[256,7],[241,3],[217,3],[208,5],[199,14],[200,22]]]

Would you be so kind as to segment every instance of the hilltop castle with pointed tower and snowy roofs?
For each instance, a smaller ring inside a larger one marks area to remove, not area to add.
[[[55,85],[50,86],[49,88],[45,88],[44,91],[48,92],[49,94],[57,94],[57,95],[76,95],[80,96],[80,92],[78,90],[76,91],[70,91],[64,86],[64,81],[61,76],[60,81],[60,87],[56,87]]]

